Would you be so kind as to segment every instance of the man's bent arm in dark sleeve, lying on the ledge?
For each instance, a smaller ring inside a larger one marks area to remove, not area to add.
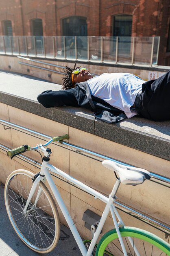
[[[72,106],[78,107],[78,102],[74,96],[73,89],[63,91],[44,91],[38,95],[37,100],[46,108],[57,106]]]

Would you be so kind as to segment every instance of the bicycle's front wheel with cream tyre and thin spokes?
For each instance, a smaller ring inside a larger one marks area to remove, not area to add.
[[[34,174],[26,170],[13,171],[5,184],[5,205],[11,224],[20,239],[35,252],[48,253],[59,240],[59,214],[43,182],[39,182],[26,213],[23,212],[33,185],[33,177]]]

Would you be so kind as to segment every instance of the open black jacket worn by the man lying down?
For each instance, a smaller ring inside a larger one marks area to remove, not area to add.
[[[46,108],[66,105],[89,109],[94,111],[94,116],[97,119],[111,124],[126,118],[123,111],[91,95],[87,82],[76,83],[76,87],[70,90],[42,92],[37,99]]]

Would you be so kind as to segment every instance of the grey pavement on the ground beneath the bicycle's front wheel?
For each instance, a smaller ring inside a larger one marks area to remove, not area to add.
[[[15,233],[9,221],[4,203],[4,185],[0,183],[0,256],[81,256],[70,229],[61,225],[57,247],[48,254],[39,254],[29,249]]]

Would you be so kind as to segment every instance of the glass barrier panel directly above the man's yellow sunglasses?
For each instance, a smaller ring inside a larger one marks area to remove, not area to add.
[[[76,37],[76,46],[77,46],[77,59],[87,60],[88,56],[88,47],[87,47],[87,36],[77,36]]]

